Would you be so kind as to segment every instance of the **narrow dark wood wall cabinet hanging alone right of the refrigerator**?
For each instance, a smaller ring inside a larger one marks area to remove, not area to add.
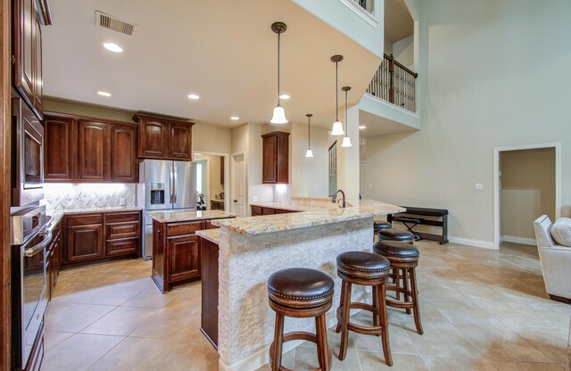
[[[261,137],[263,140],[262,183],[288,183],[289,133],[275,131]]]

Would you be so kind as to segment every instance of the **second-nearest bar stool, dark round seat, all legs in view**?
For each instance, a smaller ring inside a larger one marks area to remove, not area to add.
[[[337,255],[337,276],[343,280],[341,303],[337,309],[337,328],[341,332],[339,359],[345,359],[349,331],[359,334],[382,336],[383,353],[388,366],[393,366],[391,345],[389,343],[388,317],[386,314],[386,278],[391,263],[386,258],[366,251],[347,251]],[[352,284],[372,286],[373,305],[364,302],[352,302]],[[359,326],[349,321],[351,309],[364,309],[373,313],[373,326]]]

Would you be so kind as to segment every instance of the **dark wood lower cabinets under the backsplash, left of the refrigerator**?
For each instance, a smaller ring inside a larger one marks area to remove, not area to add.
[[[141,211],[68,215],[64,264],[141,254]]]

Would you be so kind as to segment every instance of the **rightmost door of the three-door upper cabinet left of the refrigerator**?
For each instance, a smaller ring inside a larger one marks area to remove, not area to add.
[[[111,180],[137,183],[137,128],[112,125]]]

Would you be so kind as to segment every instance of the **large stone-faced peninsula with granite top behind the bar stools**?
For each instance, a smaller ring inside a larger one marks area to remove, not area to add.
[[[370,200],[348,202],[343,209],[330,199],[302,197],[254,205],[298,212],[213,220],[211,223],[220,227],[218,233],[197,232],[210,242],[210,249],[216,249],[212,254],[216,258],[207,264],[217,263],[218,268],[205,269],[218,271],[218,276],[203,276],[203,290],[208,286],[210,293],[207,298],[203,293],[203,301],[216,297],[218,303],[203,302],[203,310],[206,305],[207,309],[218,308],[218,313],[216,318],[208,318],[211,312],[203,313],[203,332],[208,330],[204,326],[217,332],[209,339],[218,346],[221,370],[254,370],[268,362],[275,314],[269,308],[266,281],[279,269],[315,268],[334,279],[335,304],[327,314],[328,325],[334,325],[341,294],[336,256],[343,251],[370,251],[373,218],[404,211]],[[353,299],[360,300],[364,294],[364,289],[355,287]],[[289,331],[313,332],[314,320],[286,320],[285,332]],[[285,343],[284,351],[298,343]]]

